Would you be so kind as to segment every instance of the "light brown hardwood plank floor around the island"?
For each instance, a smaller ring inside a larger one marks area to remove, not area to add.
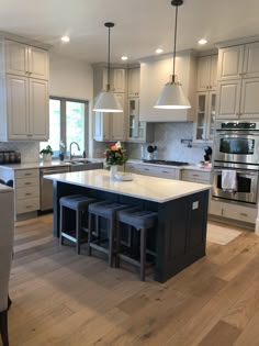
[[[83,247],[82,247],[83,248]],[[161,284],[16,223],[10,345],[259,345],[259,237],[244,232]]]

